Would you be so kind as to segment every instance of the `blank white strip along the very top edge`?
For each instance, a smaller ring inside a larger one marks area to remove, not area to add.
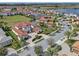
[[[0,2],[79,2],[79,0],[0,0]]]

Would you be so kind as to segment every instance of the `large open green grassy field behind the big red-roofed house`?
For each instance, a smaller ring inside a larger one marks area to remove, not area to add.
[[[31,17],[21,16],[21,15],[4,16],[3,19],[0,19],[0,21],[7,22],[9,26],[12,26],[17,22],[31,21],[31,20],[32,20]]]

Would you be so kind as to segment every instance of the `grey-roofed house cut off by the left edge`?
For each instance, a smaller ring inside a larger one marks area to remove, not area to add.
[[[7,46],[12,43],[12,38],[10,36],[6,36],[5,32],[0,28],[0,48]]]

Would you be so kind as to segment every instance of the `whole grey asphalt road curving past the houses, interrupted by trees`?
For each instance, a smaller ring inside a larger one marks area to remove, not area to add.
[[[55,35],[52,36],[52,39],[54,39],[57,44],[60,44],[64,40],[64,37],[65,37],[64,33],[69,30],[67,22],[62,21],[62,20],[59,21],[59,22],[60,22],[60,24],[63,25],[63,28],[61,28],[61,30],[59,30],[59,32],[56,32]],[[42,41],[40,41],[39,43],[36,44],[36,45],[42,46],[43,51],[45,51],[48,48],[48,40],[47,40],[48,37],[44,36],[44,38],[45,38],[44,40],[42,40]],[[63,38],[63,40],[62,40],[62,38]],[[34,46],[29,46],[28,48],[29,48],[28,50],[25,49],[23,52],[19,53],[19,55],[20,56],[22,56],[22,55],[23,56],[25,56],[25,55],[32,55],[32,56],[36,55],[35,52],[34,52]]]

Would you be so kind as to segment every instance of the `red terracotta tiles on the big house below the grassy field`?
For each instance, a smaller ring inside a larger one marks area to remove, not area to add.
[[[31,22],[19,22],[19,23],[16,23],[14,26],[13,26],[13,30],[18,34],[18,35],[20,35],[20,36],[25,36],[25,35],[28,35],[28,32],[27,31],[23,31],[23,30],[21,30],[21,29],[17,29],[18,27],[21,27],[21,28],[23,28],[23,27],[27,27],[28,25],[32,25],[32,23]],[[17,28],[15,28],[15,26],[17,27]],[[34,28],[32,29],[32,31],[33,32],[39,32],[39,27],[37,27],[37,26],[34,26]]]

